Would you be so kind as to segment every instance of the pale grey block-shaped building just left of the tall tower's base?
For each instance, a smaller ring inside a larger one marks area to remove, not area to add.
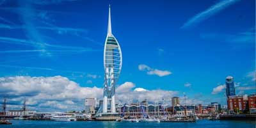
[[[96,104],[97,104],[96,98],[86,98],[84,102],[85,113],[95,114]]]

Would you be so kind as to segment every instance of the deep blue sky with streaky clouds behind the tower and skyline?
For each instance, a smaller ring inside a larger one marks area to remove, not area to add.
[[[237,93],[255,92],[255,1],[110,3],[112,31],[123,54],[120,92],[142,88],[154,95],[162,91],[167,96],[159,98],[166,99],[185,92],[190,102],[225,104],[227,76],[234,77]],[[10,107],[18,107],[26,96],[32,108],[70,109],[65,107],[68,104],[82,108],[79,102],[90,97],[86,91],[101,91],[108,4],[0,1],[0,96],[10,97]],[[65,94],[67,100],[60,95],[46,97],[42,90],[52,79],[67,86],[76,84],[86,94],[69,97],[67,92],[51,92]],[[40,95],[46,98],[36,99]]]

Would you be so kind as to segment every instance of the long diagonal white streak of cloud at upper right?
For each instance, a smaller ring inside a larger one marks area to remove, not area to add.
[[[221,10],[224,10],[231,4],[236,3],[239,0],[223,0],[220,1],[217,4],[214,4],[204,12],[198,13],[193,18],[189,19],[188,22],[186,22],[181,28],[188,28],[189,26],[195,25],[198,22],[201,22],[202,20],[208,19],[212,15],[215,15],[216,13],[220,12]]]

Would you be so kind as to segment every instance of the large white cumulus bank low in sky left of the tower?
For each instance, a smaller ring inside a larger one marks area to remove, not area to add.
[[[38,109],[83,109],[85,97],[102,97],[103,90],[96,86],[81,87],[67,77],[0,77],[0,96],[7,95],[9,100],[20,102],[27,97],[28,105]],[[74,102],[76,101],[76,102]],[[73,104],[74,103],[74,104]],[[54,104],[54,105],[52,105]],[[72,105],[72,106],[70,106]]]

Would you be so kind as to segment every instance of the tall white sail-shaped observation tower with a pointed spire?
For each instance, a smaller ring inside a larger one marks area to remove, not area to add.
[[[120,45],[111,31],[111,8],[109,5],[108,34],[104,45],[104,93],[102,113],[116,113],[115,86],[122,68]],[[108,108],[110,106],[110,108]]]

